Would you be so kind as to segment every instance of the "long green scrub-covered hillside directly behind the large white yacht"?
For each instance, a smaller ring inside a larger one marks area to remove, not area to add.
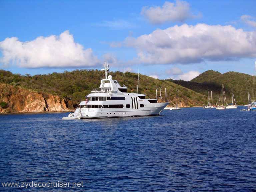
[[[113,79],[119,81],[120,85],[124,84],[124,74],[122,72],[112,72],[111,75]],[[81,100],[85,99],[85,96],[91,92],[92,88],[99,87],[103,76],[103,72],[99,70],[75,70],[34,76],[29,74],[12,74],[9,71],[0,70],[0,83],[19,86],[40,93],[58,95],[61,98],[70,99],[78,104]],[[128,92],[137,92],[138,74],[126,72],[125,79]],[[160,88],[163,101],[165,101],[164,90],[166,88],[167,101],[170,102],[170,105],[176,103],[176,88],[178,88],[181,106],[202,106],[204,101],[207,100],[204,95],[181,85],[140,74],[140,93],[145,94],[148,98],[155,98],[156,89],[159,96]]]

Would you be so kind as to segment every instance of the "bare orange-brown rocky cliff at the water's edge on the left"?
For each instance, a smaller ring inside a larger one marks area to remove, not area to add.
[[[74,103],[57,95],[44,94],[18,86],[0,84],[0,113],[63,112],[74,109]]]

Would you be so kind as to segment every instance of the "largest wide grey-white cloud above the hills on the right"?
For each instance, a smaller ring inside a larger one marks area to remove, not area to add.
[[[256,57],[256,31],[231,25],[175,25],[157,29],[124,44],[137,50],[137,62],[146,64],[199,63]]]

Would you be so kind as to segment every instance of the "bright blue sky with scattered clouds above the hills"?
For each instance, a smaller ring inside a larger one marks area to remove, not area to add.
[[[0,1],[0,69],[255,74],[256,1]]]

